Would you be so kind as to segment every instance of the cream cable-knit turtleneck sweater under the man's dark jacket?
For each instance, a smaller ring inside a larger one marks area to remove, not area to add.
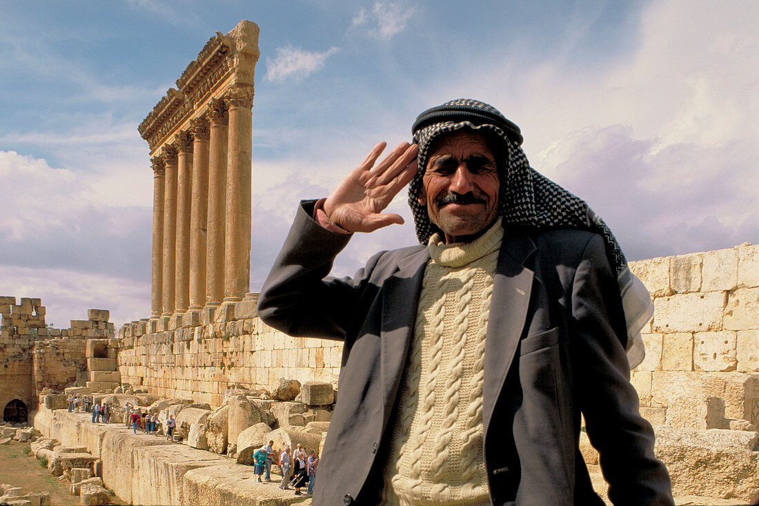
[[[503,229],[430,238],[430,262],[393,423],[383,504],[490,504],[483,457],[485,332]]]

